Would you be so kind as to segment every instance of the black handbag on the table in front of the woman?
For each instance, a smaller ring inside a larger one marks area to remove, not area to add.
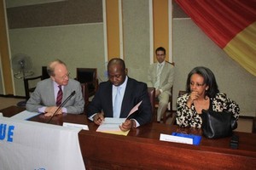
[[[202,110],[202,132],[208,139],[224,138],[232,135],[237,127],[236,118],[231,112]]]

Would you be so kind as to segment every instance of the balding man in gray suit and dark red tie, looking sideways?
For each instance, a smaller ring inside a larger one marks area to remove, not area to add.
[[[55,114],[80,114],[84,111],[84,98],[81,85],[78,81],[69,78],[67,65],[56,59],[47,66],[49,78],[38,82],[37,88],[26,102],[27,111],[45,113],[44,116],[53,116],[55,111],[67,97],[67,103]]]

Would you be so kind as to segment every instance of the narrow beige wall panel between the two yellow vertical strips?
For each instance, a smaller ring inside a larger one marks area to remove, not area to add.
[[[128,75],[147,82],[149,58],[148,1],[123,1],[124,56]]]

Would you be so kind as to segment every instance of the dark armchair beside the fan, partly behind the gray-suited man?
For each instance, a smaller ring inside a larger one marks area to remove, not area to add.
[[[26,100],[30,98],[30,93],[32,93],[36,89],[37,82],[44,80],[46,78],[49,78],[46,66],[42,66],[41,76],[24,78]]]

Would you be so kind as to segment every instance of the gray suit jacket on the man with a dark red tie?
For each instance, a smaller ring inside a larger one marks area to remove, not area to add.
[[[63,107],[67,108],[67,113],[80,114],[84,111],[84,97],[81,85],[78,81],[69,79],[67,86],[64,86],[63,89],[62,102],[67,99],[73,91],[76,93]],[[53,81],[48,78],[38,82],[37,88],[26,102],[26,110],[38,112],[38,108],[54,105],[56,105],[54,85]]]

